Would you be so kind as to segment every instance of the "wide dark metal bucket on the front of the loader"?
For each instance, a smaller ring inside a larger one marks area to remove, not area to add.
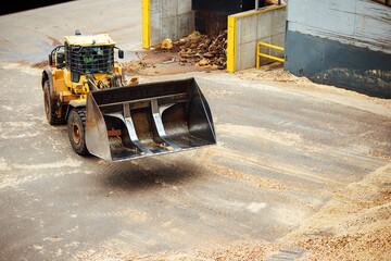
[[[91,154],[123,161],[216,144],[210,107],[194,78],[90,91]]]

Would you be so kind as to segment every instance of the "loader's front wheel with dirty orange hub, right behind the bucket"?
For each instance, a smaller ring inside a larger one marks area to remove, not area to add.
[[[86,109],[72,109],[67,119],[67,130],[73,150],[80,156],[88,156],[86,146]]]

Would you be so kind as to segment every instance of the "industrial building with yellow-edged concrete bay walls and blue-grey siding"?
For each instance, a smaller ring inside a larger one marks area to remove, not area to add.
[[[142,22],[143,48],[195,29],[227,29],[229,72],[255,67],[265,42],[279,49],[260,51],[283,59],[297,76],[391,98],[389,0],[143,0]]]

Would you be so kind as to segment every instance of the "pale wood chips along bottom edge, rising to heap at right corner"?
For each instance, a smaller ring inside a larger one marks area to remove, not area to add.
[[[79,260],[265,260],[281,249],[301,248],[297,260],[391,260],[391,163],[336,191],[303,226],[277,243],[133,256],[110,248],[84,252]]]

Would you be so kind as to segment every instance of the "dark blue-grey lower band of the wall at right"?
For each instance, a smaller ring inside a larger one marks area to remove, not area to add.
[[[391,98],[391,54],[287,30],[285,71],[319,84]]]

